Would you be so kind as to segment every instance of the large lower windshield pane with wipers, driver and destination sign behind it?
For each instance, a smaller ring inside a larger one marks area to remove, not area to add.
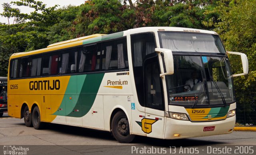
[[[234,102],[230,66],[225,57],[173,56],[174,74],[166,76],[170,104],[197,106]],[[221,93],[221,94],[220,94]]]

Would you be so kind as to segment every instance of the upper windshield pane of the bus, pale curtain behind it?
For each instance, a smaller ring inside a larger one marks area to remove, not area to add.
[[[161,48],[173,52],[226,53],[218,35],[198,32],[158,32]]]

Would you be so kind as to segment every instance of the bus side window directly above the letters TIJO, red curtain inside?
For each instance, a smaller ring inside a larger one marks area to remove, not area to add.
[[[44,54],[42,57],[42,76],[57,74],[58,52]]]

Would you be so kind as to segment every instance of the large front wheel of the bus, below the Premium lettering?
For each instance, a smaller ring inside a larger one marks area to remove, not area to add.
[[[135,135],[130,135],[130,126],[127,116],[123,111],[118,111],[111,122],[112,134],[120,143],[130,143]]]

